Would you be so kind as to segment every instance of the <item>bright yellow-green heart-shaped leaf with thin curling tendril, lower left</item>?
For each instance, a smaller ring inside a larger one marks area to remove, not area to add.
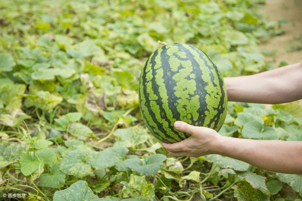
[[[30,154],[22,155],[19,163],[21,165],[21,172],[24,176],[28,176],[35,170],[42,169],[44,167],[43,158],[38,158],[37,156],[32,156]]]

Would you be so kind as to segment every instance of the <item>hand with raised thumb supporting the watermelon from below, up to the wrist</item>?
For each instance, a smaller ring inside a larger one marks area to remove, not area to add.
[[[223,136],[219,135],[215,130],[207,127],[192,126],[183,121],[175,121],[174,127],[177,130],[191,134],[191,136],[173,144],[162,143],[162,146],[173,156],[199,157],[218,153],[220,138]]]

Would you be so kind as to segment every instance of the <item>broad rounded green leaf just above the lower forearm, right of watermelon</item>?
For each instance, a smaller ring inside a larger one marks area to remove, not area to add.
[[[263,128],[263,124],[259,121],[251,121],[244,124],[242,129],[242,137],[263,140],[278,140],[274,128],[269,126]]]

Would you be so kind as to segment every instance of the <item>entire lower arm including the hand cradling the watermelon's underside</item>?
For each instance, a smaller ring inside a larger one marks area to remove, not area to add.
[[[174,126],[191,134],[189,138],[178,143],[162,143],[175,157],[220,154],[268,171],[302,174],[302,141],[226,137],[213,129],[192,126],[182,121],[176,121]]]

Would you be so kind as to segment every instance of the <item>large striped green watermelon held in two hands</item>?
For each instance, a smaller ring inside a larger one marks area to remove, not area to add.
[[[175,143],[189,137],[175,121],[218,131],[227,110],[226,88],[213,61],[200,49],[171,43],[153,52],[142,70],[140,110],[151,133]]]

